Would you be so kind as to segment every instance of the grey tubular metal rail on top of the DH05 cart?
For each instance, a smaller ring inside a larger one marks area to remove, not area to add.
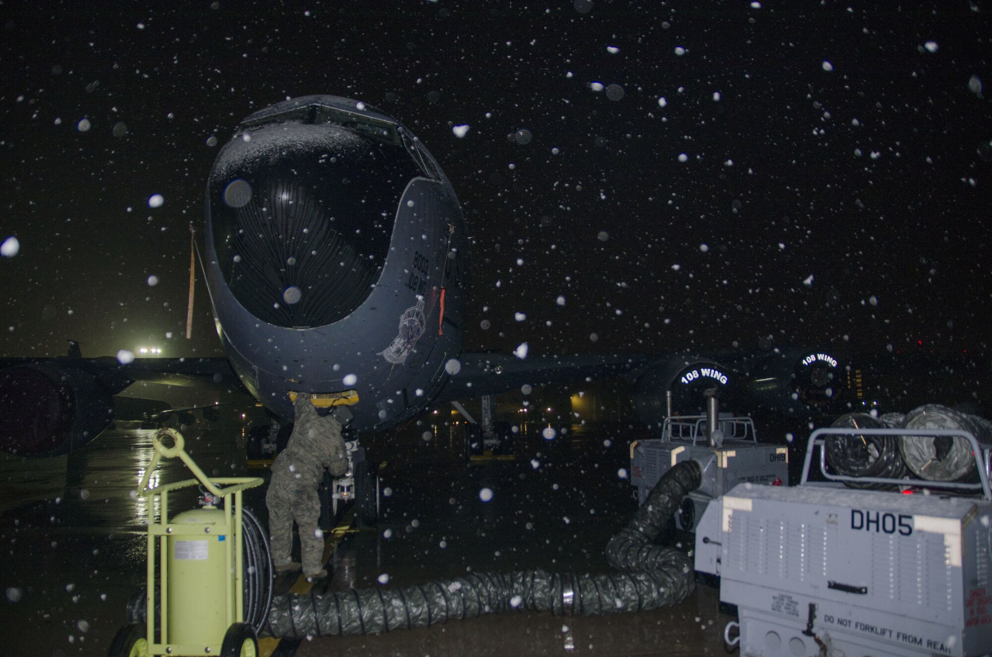
[[[971,444],[971,454],[975,460],[975,468],[978,470],[978,483],[966,483],[961,481],[932,481],[929,479],[893,479],[881,476],[846,476],[844,474],[830,474],[826,471],[826,438],[839,439],[846,436],[920,436],[930,438],[959,437]],[[888,483],[897,486],[921,486],[926,488],[955,488],[958,490],[978,490],[981,491],[985,499],[992,500],[992,489],[989,488],[988,474],[988,453],[983,450],[975,437],[970,432],[952,429],[852,429],[831,427],[828,429],[817,429],[809,435],[809,442],[806,444],[806,458],[803,461],[803,476],[800,478],[800,485],[806,485],[809,480],[809,467],[812,464],[812,453],[815,448],[819,448],[819,471],[829,481],[854,481],[858,483]]]

